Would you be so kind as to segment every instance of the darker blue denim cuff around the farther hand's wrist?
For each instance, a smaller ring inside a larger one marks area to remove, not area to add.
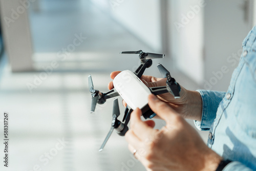
[[[201,131],[208,131],[211,124],[216,118],[216,113],[221,100],[224,98],[226,92],[197,90],[202,98],[202,118],[201,121],[194,121],[197,129]]]

